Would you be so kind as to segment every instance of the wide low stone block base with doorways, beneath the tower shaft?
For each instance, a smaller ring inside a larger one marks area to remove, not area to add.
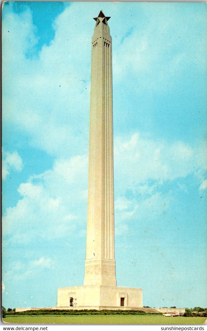
[[[142,289],[87,285],[58,289],[57,307],[73,309],[135,309],[142,307]]]

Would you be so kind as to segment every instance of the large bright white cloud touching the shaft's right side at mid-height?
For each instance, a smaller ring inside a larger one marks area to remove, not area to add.
[[[114,143],[115,181],[119,190],[142,184],[148,179],[162,182],[186,177],[203,166],[201,150],[182,143],[144,139],[134,133],[128,140],[116,138]],[[118,176],[117,176],[118,174]],[[127,186],[126,186],[127,183]],[[140,190],[147,189],[140,187]]]

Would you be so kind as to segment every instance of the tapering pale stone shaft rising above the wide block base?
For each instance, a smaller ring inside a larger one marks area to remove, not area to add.
[[[112,44],[100,12],[92,37],[88,216],[84,285],[116,286]]]

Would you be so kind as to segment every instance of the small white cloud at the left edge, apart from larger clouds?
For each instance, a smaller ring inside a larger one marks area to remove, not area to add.
[[[17,151],[13,153],[2,153],[2,179],[6,179],[6,176],[10,174],[11,169],[15,171],[22,171],[23,161]]]

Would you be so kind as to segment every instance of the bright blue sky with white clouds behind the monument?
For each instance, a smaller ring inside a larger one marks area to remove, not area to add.
[[[206,307],[206,4],[7,2],[2,12],[3,305],[83,285],[91,37],[113,56],[118,286]]]

